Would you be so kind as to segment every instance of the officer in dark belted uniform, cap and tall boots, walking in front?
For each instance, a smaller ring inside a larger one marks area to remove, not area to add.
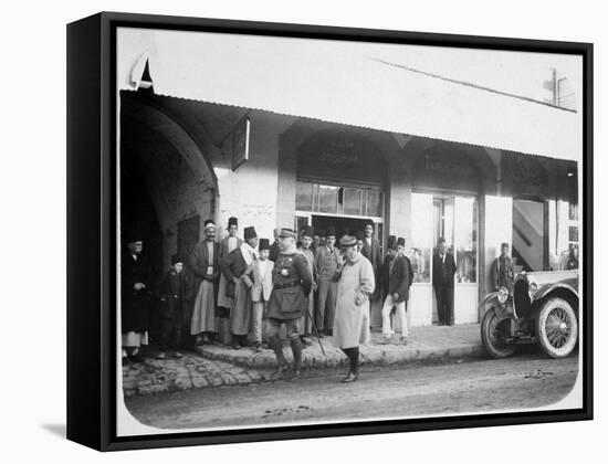
[[[281,253],[272,272],[273,291],[268,306],[269,345],[276,355],[276,371],[272,380],[279,380],[289,370],[283,356],[283,344],[279,330],[284,324],[287,329],[293,352],[292,379],[300,378],[302,365],[302,342],[300,340],[298,320],[307,310],[306,295],[311,294],[313,276],[306,259],[295,249],[296,234],[291,229],[283,229],[279,235]]]

